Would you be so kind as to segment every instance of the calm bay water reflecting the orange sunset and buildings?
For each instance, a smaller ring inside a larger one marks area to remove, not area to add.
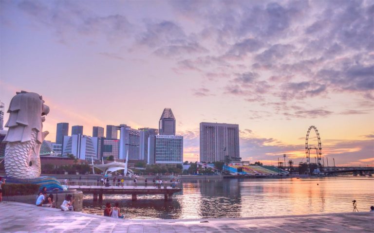
[[[317,185],[318,184],[318,185]],[[104,195],[83,198],[83,212],[103,215],[105,203],[120,202],[131,219],[254,217],[352,212],[352,200],[362,212],[374,205],[374,178],[202,179],[183,180],[183,194],[164,201],[163,195]]]

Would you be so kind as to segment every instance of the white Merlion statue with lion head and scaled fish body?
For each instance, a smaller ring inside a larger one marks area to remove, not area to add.
[[[5,124],[8,133],[4,139],[5,173],[15,179],[40,177],[40,146],[49,133],[43,132],[45,115],[49,107],[41,95],[33,92],[17,92],[9,105],[9,120]]]

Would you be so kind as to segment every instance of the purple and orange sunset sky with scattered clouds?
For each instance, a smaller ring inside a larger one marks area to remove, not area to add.
[[[374,165],[373,1],[1,0],[0,13],[0,101],[41,94],[47,140],[59,122],[157,128],[171,108],[185,161],[199,123],[218,122],[239,124],[244,161],[305,162],[315,125],[322,157]]]

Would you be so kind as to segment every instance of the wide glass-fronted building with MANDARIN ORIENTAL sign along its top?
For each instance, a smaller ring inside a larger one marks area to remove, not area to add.
[[[149,164],[183,163],[183,136],[150,136],[148,148]]]

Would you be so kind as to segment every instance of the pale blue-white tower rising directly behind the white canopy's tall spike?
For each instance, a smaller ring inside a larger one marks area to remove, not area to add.
[[[133,129],[128,125],[120,125],[119,136],[119,159],[126,159],[129,152],[129,160],[141,159],[141,147],[144,146],[140,139],[143,137],[143,131]]]

